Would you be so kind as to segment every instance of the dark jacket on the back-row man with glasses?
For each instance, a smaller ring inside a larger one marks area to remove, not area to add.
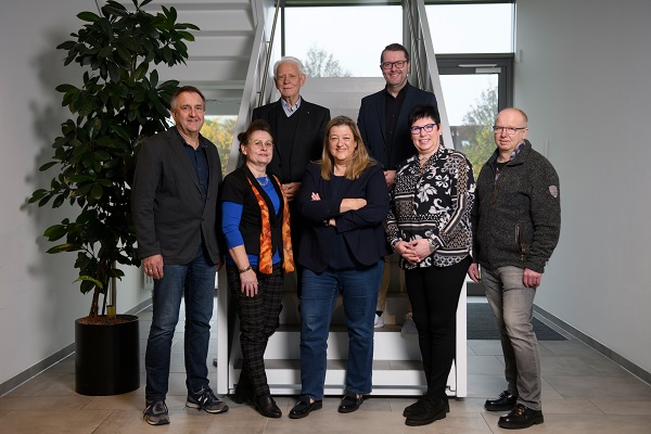
[[[385,169],[395,170],[398,165],[416,153],[411,132],[409,131],[409,112],[418,104],[429,104],[436,107],[434,93],[414,88],[407,82],[405,102],[398,115],[396,133],[393,143],[386,142],[386,117],[384,115],[385,89],[362,98],[357,117],[357,126],[361,132],[361,140],[367,145],[369,153]]]

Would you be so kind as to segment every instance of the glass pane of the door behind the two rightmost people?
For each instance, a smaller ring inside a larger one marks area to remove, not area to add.
[[[455,149],[468,156],[475,176],[495,151],[493,122],[497,116],[497,74],[442,75]]]

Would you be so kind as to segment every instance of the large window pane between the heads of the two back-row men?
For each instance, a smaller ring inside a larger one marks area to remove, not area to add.
[[[312,77],[382,77],[382,50],[401,40],[398,5],[285,9],[285,55]]]

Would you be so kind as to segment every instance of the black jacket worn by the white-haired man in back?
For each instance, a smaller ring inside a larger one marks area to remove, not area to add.
[[[307,164],[310,161],[321,158],[324,129],[330,122],[330,110],[303,99],[298,113],[293,115],[299,117],[294,142],[291,146],[278,144],[279,116],[285,116],[280,100],[255,108],[252,120],[265,119],[271,125],[273,142],[277,145],[273,146],[273,158],[267,166],[267,173],[276,175],[282,183],[298,182],[303,178]],[[283,148],[291,149],[291,155],[283,155]],[[285,166],[290,167],[291,175],[289,178],[282,176],[282,169]]]

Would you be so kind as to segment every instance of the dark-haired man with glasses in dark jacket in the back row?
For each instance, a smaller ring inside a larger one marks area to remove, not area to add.
[[[369,154],[384,167],[386,187],[391,189],[398,165],[416,152],[407,120],[414,105],[436,107],[434,93],[414,88],[407,80],[411,63],[409,52],[399,43],[391,43],[382,50],[380,69],[386,81],[384,89],[365,97],[359,107],[357,126]],[[384,264],[384,276],[378,298],[375,327],[384,326],[382,312],[391,280],[388,257]],[[404,279],[400,279],[403,284]],[[404,333],[416,333],[411,308],[405,316]]]

